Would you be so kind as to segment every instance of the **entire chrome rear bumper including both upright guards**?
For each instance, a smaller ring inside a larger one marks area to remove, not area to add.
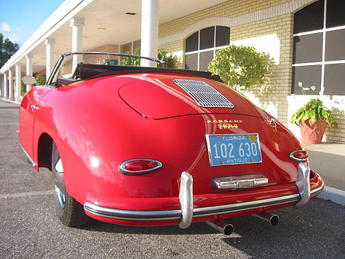
[[[255,201],[244,201],[236,204],[225,204],[219,206],[209,206],[202,208],[193,207],[193,178],[186,171],[181,173],[181,184],[179,191],[179,210],[118,210],[114,208],[105,208],[97,206],[90,202],[84,204],[84,209],[90,214],[96,216],[120,219],[125,221],[164,221],[179,219],[179,227],[187,228],[192,223],[194,217],[207,217],[231,212],[240,212],[269,206],[278,206],[296,202],[296,207],[301,207],[309,201],[311,197],[318,195],[324,189],[324,182],[318,187],[310,190],[310,169],[305,164],[298,166],[298,176],[296,187],[298,193],[292,195],[283,195],[268,199],[259,199]]]

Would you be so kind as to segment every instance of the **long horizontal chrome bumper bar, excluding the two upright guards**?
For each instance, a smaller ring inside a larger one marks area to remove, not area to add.
[[[324,189],[324,182],[314,188],[310,192],[310,197],[318,195]],[[230,212],[238,212],[242,210],[250,210],[255,208],[264,208],[269,206],[277,206],[281,204],[287,204],[290,202],[298,201],[300,199],[299,193],[294,195],[286,195],[281,197],[274,197],[270,199],[261,199],[257,201],[246,201],[239,204],[227,204],[212,207],[194,208],[193,217],[205,217],[216,214],[226,214]],[[162,221],[181,219],[181,210],[118,210],[112,208],[104,208],[86,202],[84,209],[90,214],[94,214],[101,217],[107,217],[111,219],[123,219],[129,221]]]

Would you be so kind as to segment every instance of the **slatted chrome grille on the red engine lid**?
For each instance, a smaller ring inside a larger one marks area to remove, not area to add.
[[[203,81],[175,79],[174,83],[185,90],[201,107],[233,108],[233,104],[224,95]]]

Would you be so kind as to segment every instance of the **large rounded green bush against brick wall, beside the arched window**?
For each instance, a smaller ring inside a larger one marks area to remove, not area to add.
[[[267,53],[259,53],[251,46],[230,45],[216,53],[208,69],[228,86],[251,88],[269,80],[273,65]]]

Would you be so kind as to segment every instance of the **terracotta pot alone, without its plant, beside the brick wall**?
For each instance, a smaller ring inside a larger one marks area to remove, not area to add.
[[[301,129],[302,142],[305,144],[320,144],[324,130],[326,130],[327,122],[324,120],[310,123],[309,120],[301,121],[299,124]]]

